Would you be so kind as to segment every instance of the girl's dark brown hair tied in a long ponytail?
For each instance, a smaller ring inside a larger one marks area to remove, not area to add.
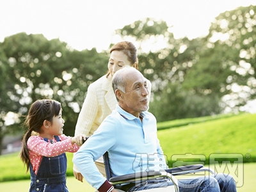
[[[28,115],[24,121],[23,126],[27,127],[27,132],[22,139],[22,148],[20,151],[20,159],[26,164],[28,172],[29,170],[29,148],[27,145],[28,139],[32,132],[40,132],[44,120],[52,122],[54,116],[59,115],[61,110],[60,102],[52,99],[36,100],[31,104]]]

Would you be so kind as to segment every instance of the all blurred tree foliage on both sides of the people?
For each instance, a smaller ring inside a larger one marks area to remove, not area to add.
[[[159,122],[238,111],[256,97],[256,6],[221,13],[203,38],[175,39],[164,20],[142,19],[116,29],[138,47],[139,70],[152,82],[150,112]],[[65,134],[73,135],[90,83],[108,56],[76,51],[59,39],[18,33],[0,43],[0,142],[17,130],[29,105],[59,100]],[[6,124],[6,115],[18,116]]]

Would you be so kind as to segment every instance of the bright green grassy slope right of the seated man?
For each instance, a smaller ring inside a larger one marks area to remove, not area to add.
[[[256,162],[255,124],[256,114],[243,114],[164,129],[158,131],[158,137],[171,163],[173,155],[186,153],[204,155],[206,159],[215,153],[242,154],[244,162]],[[250,154],[249,159],[246,154]]]

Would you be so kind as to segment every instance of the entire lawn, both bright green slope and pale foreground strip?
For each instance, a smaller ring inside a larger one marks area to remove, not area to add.
[[[190,123],[189,123],[190,122]],[[205,156],[205,163],[211,154],[240,154],[243,156],[243,187],[237,191],[255,191],[256,188],[256,114],[218,116],[218,118],[198,118],[175,120],[159,125],[158,138],[172,167],[177,159],[174,155],[193,154]],[[168,126],[170,128],[168,129]],[[176,126],[176,127],[175,127]],[[0,191],[28,191],[30,175],[25,174],[19,153],[0,156]],[[73,191],[95,191],[87,182],[78,182],[72,172],[73,154],[67,153],[67,186]],[[173,160],[174,159],[174,160]],[[185,159],[186,160],[186,159]],[[199,159],[201,161],[201,159]],[[252,163],[253,162],[253,163]],[[195,164],[195,163],[189,163]],[[207,165],[206,165],[207,166]],[[232,173],[232,175],[234,175]],[[241,172],[239,172],[241,179]]]

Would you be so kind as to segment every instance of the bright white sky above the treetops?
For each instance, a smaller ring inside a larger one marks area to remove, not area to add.
[[[115,29],[147,17],[162,19],[175,38],[208,33],[220,13],[255,0],[1,0],[0,42],[20,32],[60,38],[79,51],[108,49]]]

